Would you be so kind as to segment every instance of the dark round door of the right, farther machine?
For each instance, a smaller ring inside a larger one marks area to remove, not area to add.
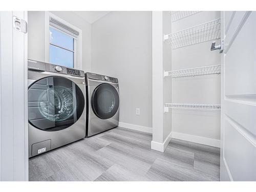
[[[119,108],[118,92],[111,84],[102,83],[94,90],[91,104],[97,117],[109,119],[116,114]]]

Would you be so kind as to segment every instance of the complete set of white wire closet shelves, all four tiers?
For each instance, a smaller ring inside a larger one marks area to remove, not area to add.
[[[176,22],[184,17],[194,15],[199,11],[173,11],[172,22]],[[199,44],[201,42],[219,39],[221,36],[221,19],[211,20],[201,25],[190,27],[164,35],[164,41],[167,41],[172,46],[172,49],[178,49],[190,45]],[[220,74],[221,65],[205,66],[197,68],[189,68],[174,71],[164,71],[164,77],[189,77],[208,74]],[[165,103],[164,113],[169,109],[191,109],[191,110],[221,110],[220,104],[189,104],[189,103]]]

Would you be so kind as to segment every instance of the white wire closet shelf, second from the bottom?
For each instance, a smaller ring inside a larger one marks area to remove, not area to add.
[[[182,69],[175,71],[164,71],[164,77],[172,76],[172,78],[176,77],[190,77],[190,76],[198,76],[198,75],[209,75],[209,74],[220,74],[221,73],[221,65],[215,66],[206,66],[206,67],[198,67],[198,68],[190,68],[190,69]]]

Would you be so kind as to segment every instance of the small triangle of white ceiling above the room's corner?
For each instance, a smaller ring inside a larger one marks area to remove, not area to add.
[[[110,11],[74,11],[77,15],[82,17],[90,24],[96,22],[96,20],[108,14]]]

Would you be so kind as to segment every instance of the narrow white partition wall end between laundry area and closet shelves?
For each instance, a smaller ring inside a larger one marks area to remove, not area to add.
[[[172,131],[172,113],[163,113],[165,102],[171,102],[171,79],[163,77],[164,70],[171,70],[172,52],[164,44],[163,35],[172,29],[170,15],[166,11],[152,13],[152,70],[153,70],[153,140],[151,148],[164,152]]]

